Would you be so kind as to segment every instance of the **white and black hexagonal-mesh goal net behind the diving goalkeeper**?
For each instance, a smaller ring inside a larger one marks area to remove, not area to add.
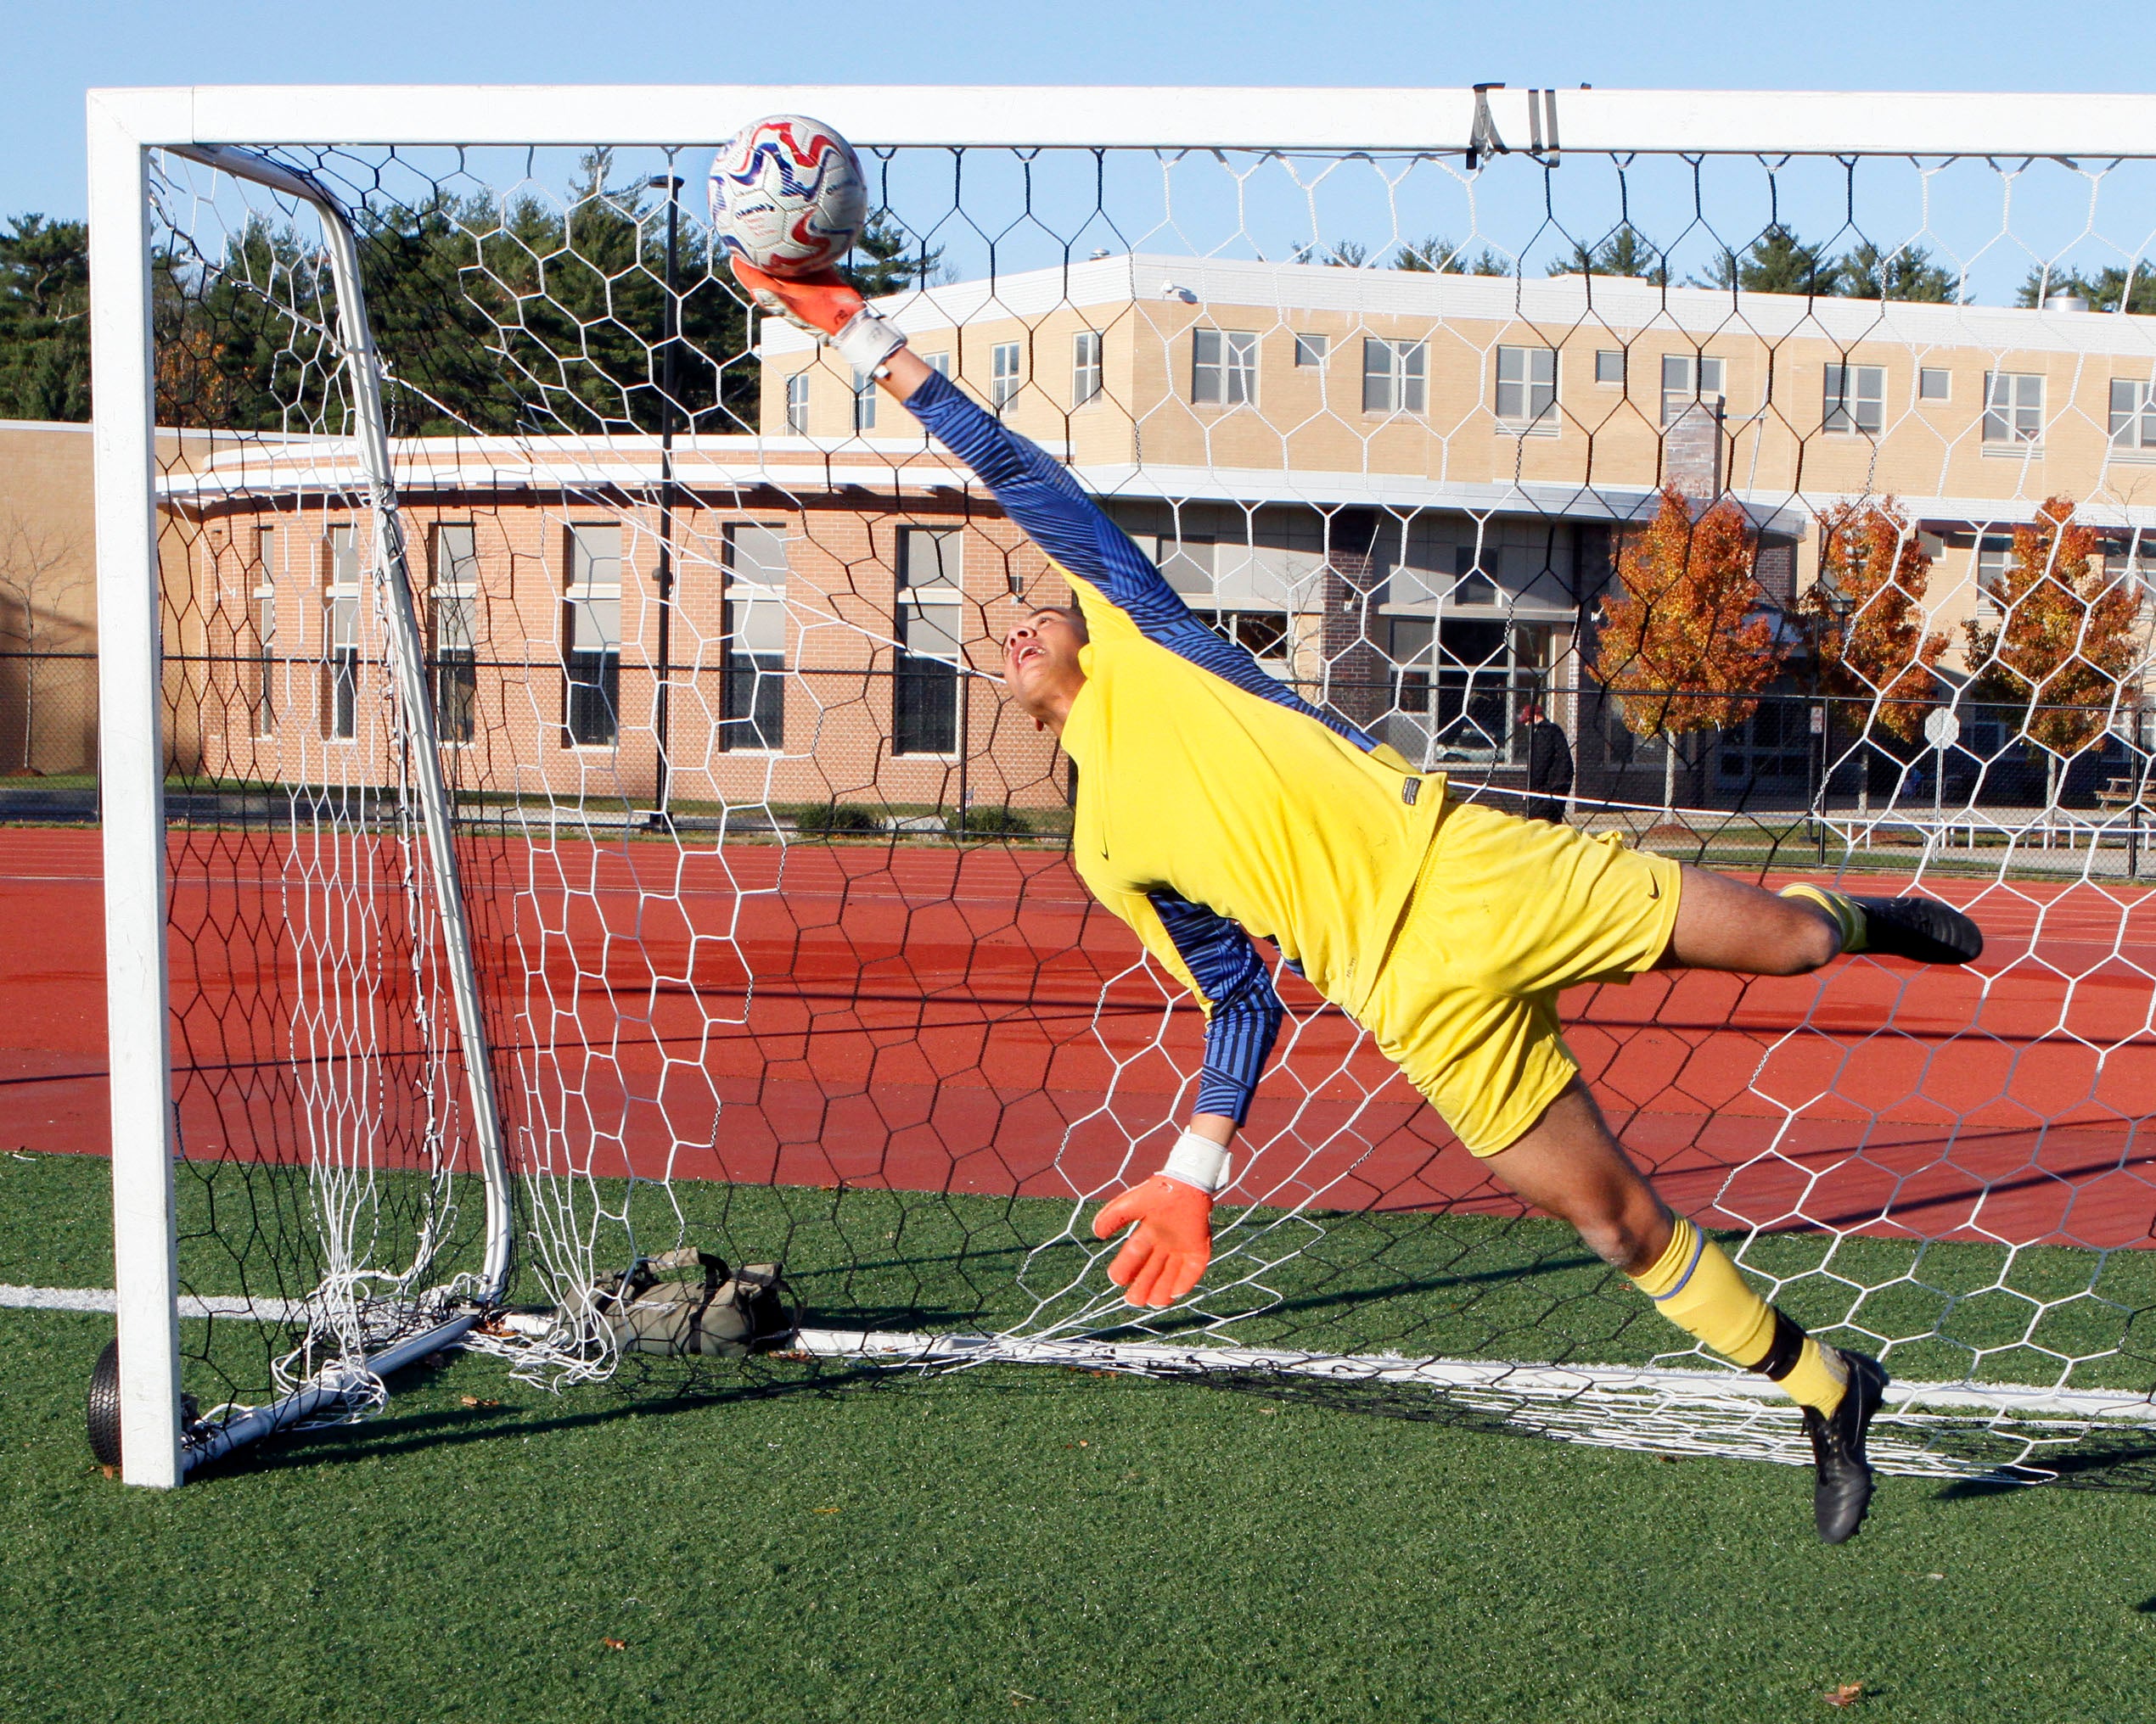
[[[114,937],[129,1429],[183,1390],[185,1468],[451,1343],[602,1379],[595,1287],[694,1246],[783,1261],[802,1330],[640,1371],[1082,1364],[1809,1457],[1285,968],[1214,1265],[1119,1302],[1089,1220],[1203,1019],[1000,696],[1063,582],[714,256],[714,140],[808,108],[869,168],[854,280],[1274,677],[1453,797],[1966,907],[1973,970],[1643,976],[1570,1045],[1673,1207],[1884,1358],[1887,1468],[2147,1442],[2156,131],[464,97],[390,110],[470,142],[222,93],[99,144],[108,233],[149,220],[99,375],[155,399],[101,502],[114,935],[164,918]]]

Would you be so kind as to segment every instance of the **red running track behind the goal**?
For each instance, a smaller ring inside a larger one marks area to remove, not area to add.
[[[367,987],[347,968],[319,989],[313,1017],[291,987],[319,931],[369,922],[362,905],[395,931],[395,858],[351,843],[338,875],[373,873],[354,892],[330,890],[332,858],[304,843],[172,843],[183,1140],[295,1155],[295,1043],[341,1047],[338,1015],[371,1013],[392,1047],[410,1030],[395,940]],[[1149,1168],[1188,1106],[1197,1011],[1164,1009],[1136,942],[1059,858],[798,847],[780,879],[763,845],[464,856],[502,1056],[571,1097],[545,1116],[513,1108],[520,1153],[552,1166],[1069,1196],[1112,1185],[1125,1159]],[[1986,929],[1971,972],[1852,961],[1567,996],[1613,1123],[1673,1205],[1725,1224],[2147,1243],[2156,901],[2076,881],[1936,890]],[[6,1146],[101,1153],[97,834],[0,834],[0,905]],[[1516,1209],[1337,1013],[1307,991],[1289,1004],[1302,1021],[1253,1112],[1244,1190]],[[392,1108],[390,1136],[405,1129]]]

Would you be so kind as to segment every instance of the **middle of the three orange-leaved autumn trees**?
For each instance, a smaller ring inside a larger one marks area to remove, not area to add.
[[[1932,558],[1893,498],[1818,515],[1820,578],[1796,601],[1820,687],[1869,703],[1874,722],[1912,741],[1936,687],[1947,636],[1923,627]],[[1869,763],[1863,791],[1869,793]]]

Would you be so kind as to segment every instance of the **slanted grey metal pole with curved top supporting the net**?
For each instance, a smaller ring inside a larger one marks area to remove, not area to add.
[[[306,203],[321,220],[330,248],[330,280],[336,287],[336,340],[351,381],[351,412],[358,420],[360,468],[367,474],[367,504],[375,524],[375,556],[388,580],[390,672],[403,703],[418,784],[420,821],[427,828],[427,864],[433,875],[436,914],[442,924],[442,957],[448,991],[457,1006],[457,1039],[464,1047],[464,1080],[472,1108],[472,1136],[487,1185],[487,1254],[481,1267],[481,1297],[498,1299],[509,1284],[515,1211],[509,1196],[509,1155],[502,1146],[502,1114],[494,1095],[494,1060],[479,1000],[479,965],[464,916],[464,881],[448,819],[448,780],[442,776],[442,743],[433,722],[433,692],[427,685],[427,653],[412,601],[403,517],[397,513],[397,483],[390,468],[388,416],[382,409],[382,364],[367,321],[367,291],[360,280],[360,246],[343,205],[302,172],[293,172],[252,151],[220,144],[177,144],[175,155],[203,162],[218,172],[250,179],[272,192]]]

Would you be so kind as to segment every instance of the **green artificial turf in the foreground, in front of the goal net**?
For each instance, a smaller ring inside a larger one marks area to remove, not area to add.
[[[103,1332],[0,1315],[22,1724],[2150,1713],[2145,1496],[1887,1480],[1824,1549],[1789,1468],[1067,1371],[634,1401],[479,1358],[157,1496],[82,1446]]]

